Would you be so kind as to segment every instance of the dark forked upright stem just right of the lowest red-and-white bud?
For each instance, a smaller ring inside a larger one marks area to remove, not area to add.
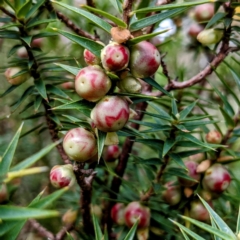
[[[94,172],[93,169],[88,169],[88,171],[86,171],[83,168],[84,163],[76,163],[74,166],[74,174],[76,176],[78,185],[81,188],[80,210],[83,218],[83,228],[86,233],[92,234],[94,229],[90,205],[92,198],[92,182],[97,172]]]

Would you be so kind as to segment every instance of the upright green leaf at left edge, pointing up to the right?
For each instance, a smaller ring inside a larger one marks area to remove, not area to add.
[[[23,123],[21,124],[21,126],[17,130],[17,132],[14,135],[12,141],[10,142],[6,151],[3,154],[3,157],[0,161],[0,176],[5,176],[8,173],[8,170],[9,170],[9,168],[11,166],[11,163],[12,163],[12,160],[13,160],[15,150],[17,148],[17,144],[18,144],[18,140],[19,140],[19,137],[20,137],[20,133],[22,131],[22,127],[23,127]],[[0,217],[0,219],[1,219],[1,217]]]

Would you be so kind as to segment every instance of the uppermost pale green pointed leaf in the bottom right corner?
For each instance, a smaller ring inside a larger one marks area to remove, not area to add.
[[[209,212],[211,218],[214,220],[214,222],[217,224],[218,228],[228,234],[230,236],[230,239],[236,239],[235,234],[233,233],[233,231],[228,227],[228,225],[222,220],[222,218],[220,216],[218,216],[218,214],[209,206],[209,204],[199,196],[200,200],[202,201],[203,205],[205,206],[205,208],[207,209],[207,211]]]

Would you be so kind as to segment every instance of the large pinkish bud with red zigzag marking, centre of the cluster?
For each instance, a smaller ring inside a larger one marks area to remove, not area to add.
[[[130,109],[123,97],[105,96],[91,112],[94,125],[103,132],[116,132],[128,121]]]

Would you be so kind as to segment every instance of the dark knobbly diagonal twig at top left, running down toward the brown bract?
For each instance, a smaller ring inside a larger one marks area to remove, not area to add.
[[[98,40],[95,36],[77,27],[68,17],[64,16],[63,13],[56,11],[49,1],[45,3],[45,6],[49,12],[55,12],[58,19],[60,19],[68,28],[72,29],[77,35],[89,38],[94,41]]]

